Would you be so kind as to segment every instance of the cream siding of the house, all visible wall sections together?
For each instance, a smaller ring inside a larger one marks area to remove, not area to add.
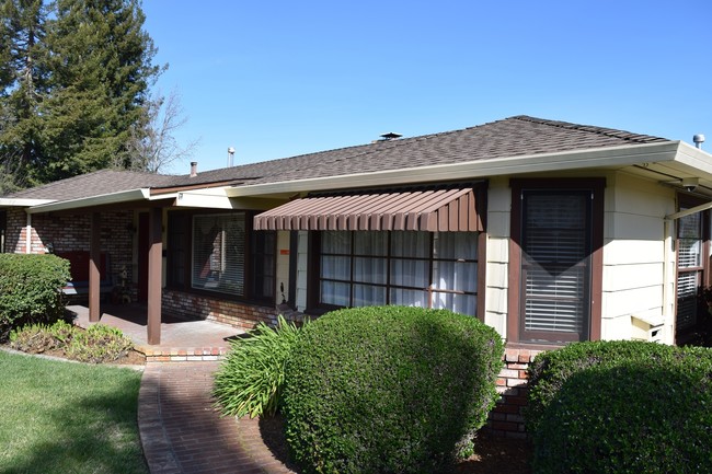
[[[570,173],[562,176],[607,180],[601,337],[631,338],[632,316],[664,317],[663,342],[673,344],[675,253],[671,238],[675,222],[666,226],[664,217],[676,210],[675,189],[625,172]],[[512,209],[509,177],[490,181],[487,204],[484,321],[506,338]],[[307,304],[307,232],[300,232],[297,271],[299,311],[303,311]]]

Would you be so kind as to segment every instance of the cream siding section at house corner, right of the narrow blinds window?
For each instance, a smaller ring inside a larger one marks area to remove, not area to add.
[[[662,319],[673,344],[675,308],[675,189],[627,173],[606,188],[601,337],[629,339],[632,316]],[[666,241],[667,239],[667,241]],[[666,251],[666,242],[668,248]]]

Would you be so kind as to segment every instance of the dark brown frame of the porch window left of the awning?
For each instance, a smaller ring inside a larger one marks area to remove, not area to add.
[[[210,291],[202,290],[199,288],[194,288],[191,284],[192,281],[192,258],[193,258],[193,217],[194,216],[209,216],[209,215],[225,215],[225,213],[244,213],[245,218],[245,242],[244,242],[244,296],[231,294],[221,291]],[[183,275],[183,285],[176,284],[175,279],[171,274],[171,270],[174,268],[173,264],[168,261],[171,257],[171,248],[166,248],[166,288],[172,290],[177,290],[186,293],[200,294],[204,297],[213,299],[223,299],[231,301],[240,301],[245,303],[254,303],[260,305],[274,305],[276,299],[276,289],[273,290],[271,298],[255,297],[254,296],[254,270],[253,270],[253,255],[252,246],[255,232],[275,232],[275,231],[255,231],[252,229],[253,217],[259,213],[259,211],[252,210],[226,210],[226,209],[191,209],[191,210],[175,210],[168,212],[168,229],[171,229],[172,222],[171,218],[173,217],[185,217],[184,226],[186,227],[184,231],[184,241],[185,245],[185,262],[184,262],[184,275]],[[170,243],[170,238],[168,239]],[[274,262],[272,274],[276,278],[276,265],[277,265],[277,238],[274,239],[275,248],[274,248]],[[275,280],[276,281],[276,280]]]

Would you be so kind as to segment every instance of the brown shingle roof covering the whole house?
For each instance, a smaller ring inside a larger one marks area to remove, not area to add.
[[[25,189],[8,197],[68,200],[141,187],[274,183],[663,141],[669,140],[519,115],[461,130],[213,170],[195,177],[103,170]]]

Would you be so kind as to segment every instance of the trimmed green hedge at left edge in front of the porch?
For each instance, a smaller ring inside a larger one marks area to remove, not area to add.
[[[60,320],[70,278],[69,261],[56,255],[0,254],[0,340],[19,325]]]

